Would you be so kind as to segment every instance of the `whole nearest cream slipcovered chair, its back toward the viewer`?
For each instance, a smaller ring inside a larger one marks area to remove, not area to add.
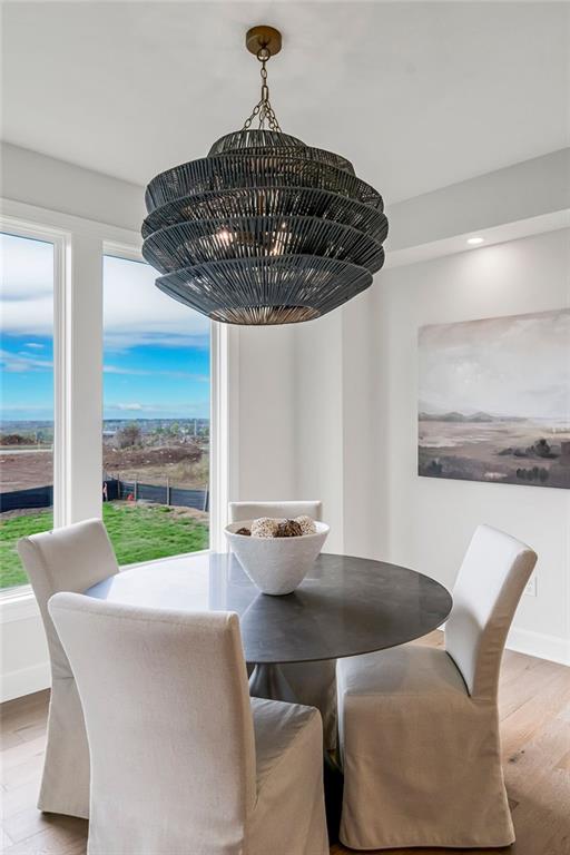
[[[58,593],[91,756],[89,855],[325,855],[316,709],[249,698],[230,612]]]

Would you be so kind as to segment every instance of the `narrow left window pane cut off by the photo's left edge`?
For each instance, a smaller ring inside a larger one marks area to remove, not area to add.
[[[0,587],[26,583],[16,551],[53,528],[52,243],[0,234]]]

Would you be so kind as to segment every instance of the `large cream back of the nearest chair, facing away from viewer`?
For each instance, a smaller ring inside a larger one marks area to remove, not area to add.
[[[256,783],[237,616],[77,593],[49,611],[83,707],[89,848],[112,851],[122,828],[129,852],[242,852]]]

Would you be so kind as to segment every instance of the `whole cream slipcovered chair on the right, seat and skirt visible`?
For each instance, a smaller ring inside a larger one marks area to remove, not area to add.
[[[514,841],[497,695],[535,561],[524,543],[480,525],[453,590],[445,649],[405,645],[338,661],[344,844],[487,851]]]

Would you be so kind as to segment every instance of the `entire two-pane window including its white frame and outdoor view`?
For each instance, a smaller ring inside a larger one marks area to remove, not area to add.
[[[6,602],[28,581],[19,538],[97,515],[101,494],[121,564],[207,549],[210,537],[225,548],[229,482],[226,331],[210,336],[207,318],[163,295],[134,250],[108,244],[114,255],[101,254],[106,236],[136,245],[136,234],[87,223],[83,234],[63,215],[37,223],[26,213],[7,203],[0,228]],[[102,478],[90,455],[101,435],[101,352]]]

